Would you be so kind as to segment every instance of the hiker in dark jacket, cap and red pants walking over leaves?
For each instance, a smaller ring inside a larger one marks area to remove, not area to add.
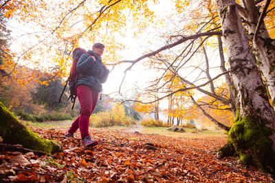
[[[80,49],[73,51],[73,58],[78,56]],[[95,146],[98,141],[92,140],[89,135],[89,117],[96,108],[98,101],[98,94],[102,92],[102,83],[106,82],[109,75],[109,70],[101,62],[104,45],[102,43],[95,43],[92,50],[83,53],[77,64],[76,70],[78,71],[77,81],[77,97],[80,103],[80,115],[72,123],[69,128],[66,138],[74,138],[76,130],[80,130],[81,139],[85,147]]]

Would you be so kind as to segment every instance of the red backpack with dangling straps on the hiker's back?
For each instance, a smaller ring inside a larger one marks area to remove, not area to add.
[[[61,99],[63,96],[63,93],[67,87],[67,84],[69,83],[69,99],[71,99],[73,106],[72,109],[74,109],[74,103],[76,103],[76,88],[77,88],[77,82],[78,82],[78,72],[76,71],[76,64],[80,58],[80,56],[82,56],[84,53],[87,53],[87,51],[85,49],[82,49],[80,47],[74,49],[73,51],[73,63],[72,63],[72,67],[71,67],[71,71],[69,72],[69,77],[66,80],[66,84],[62,90],[61,93],[61,97],[59,99],[58,103],[61,103]]]

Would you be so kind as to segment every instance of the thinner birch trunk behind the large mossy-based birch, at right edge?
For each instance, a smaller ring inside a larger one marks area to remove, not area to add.
[[[249,34],[254,36],[260,18],[255,1],[243,0],[242,3],[245,8],[243,19],[247,22]],[[264,22],[258,34],[254,36],[252,44],[258,58],[257,66],[265,77],[273,106],[275,106],[275,40],[270,38]]]

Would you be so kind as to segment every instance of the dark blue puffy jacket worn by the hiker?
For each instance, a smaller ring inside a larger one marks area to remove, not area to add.
[[[77,86],[87,85],[100,93],[102,83],[107,81],[109,70],[101,62],[100,57],[95,56],[96,62],[94,62],[91,56],[95,56],[94,51],[88,50],[88,53],[80,56],[76,64],[76,70],[78,71]]]

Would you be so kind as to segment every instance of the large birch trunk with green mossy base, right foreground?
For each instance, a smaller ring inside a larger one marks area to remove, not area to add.
[[[228,133],[240,159],[275,177],[275,114],[234,0],[216,0],[228,50],[237,114]]]

